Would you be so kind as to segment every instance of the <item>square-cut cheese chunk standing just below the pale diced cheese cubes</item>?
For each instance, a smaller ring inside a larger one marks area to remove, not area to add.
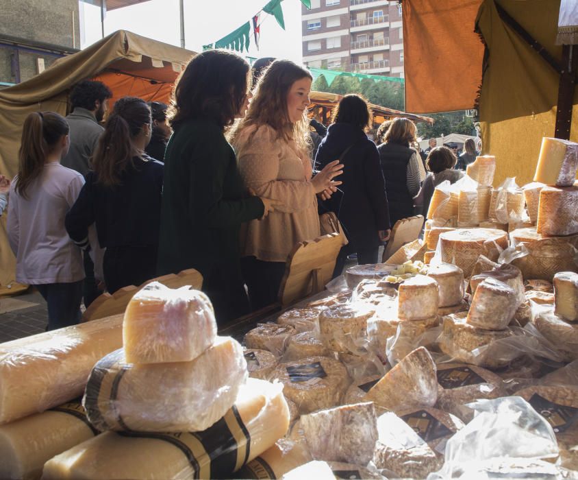
[[[401,320],[425,320],[438,313],[438,283],[425,275],[408,278],[399,285],[398,315]]]

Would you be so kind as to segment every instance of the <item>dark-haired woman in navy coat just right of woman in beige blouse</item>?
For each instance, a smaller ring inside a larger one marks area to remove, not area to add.
[[[338,158],[344,165],[341,191],[324,204],[338,215],[349,239],[338,256],[334,276],[341,274],[347,255],[353,252],[357,253],[357,263],[377,263],[379,244],[390,235],[388,197],[379,154],[364,133],[371,121],[366,101],[358,95],[346,95],[334,112],[333,124],[315,158],[318,169]]]

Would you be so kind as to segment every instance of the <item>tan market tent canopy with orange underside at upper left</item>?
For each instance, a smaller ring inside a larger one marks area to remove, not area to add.
[[[90,47],[60,58],[31,80],[0,91],[0,173],[12,178],[18,169],[21,127],[34,111],[66,115],[71,87],[86,78],[107,84],[114,99],[135,95],[168,98],[181,68],[193,51],[119,31]],[[111,104],[112,104],[111,102]],[[0,219],[0,285],[14,280],[14,256],[8,245],[5,215]]]

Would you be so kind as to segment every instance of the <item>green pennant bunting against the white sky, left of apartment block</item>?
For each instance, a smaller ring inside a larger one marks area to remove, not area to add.
[[[281,8],[281,2],[283,0],[271,0],[269,1],[259,12],[257,12],[250,21],[243,23],[240,27],[235,29],[228,35],[225,35],[220,40],[216,40],[214,43],[209,43],[208,45],[203,45],[203,50],[212,50],[213,48],[224,48],[236,51],[249,51],[249,45],[251,43],[251,27],[253,28],[253,40],[255,41],[255,46],[257,50],[259,49],[259,40],[261,34],[261,25],[264,19],[261,19],[262,12],[275,17],[277,23],[282,29],[285,29],[285,19],[283,16],[283,8]],[[305,5],[308,10],[311,10],[311,0],[301,0],[301,3]]]

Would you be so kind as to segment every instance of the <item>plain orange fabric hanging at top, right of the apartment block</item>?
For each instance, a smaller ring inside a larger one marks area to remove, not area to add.
[[[475,34],[481,0],[403,0],[405,109],[473,108],[483,45]]]

